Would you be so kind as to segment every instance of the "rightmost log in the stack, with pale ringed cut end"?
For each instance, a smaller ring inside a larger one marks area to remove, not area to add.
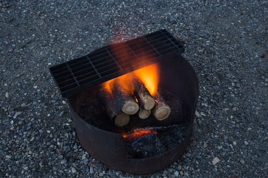
[[[154,95],[155,99],[155,107],[151,110],[153,115],[158,120],[164,120],[166,119],[170,114],[170,107],[166,104],[165,100],[162,98],[162,96],[159,93],[156,93]]]

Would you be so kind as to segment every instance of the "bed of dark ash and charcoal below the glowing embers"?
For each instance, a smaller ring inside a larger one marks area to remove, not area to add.
[[[158,129],[157,133],[144,134],[127,143],[127,158],[140,159],[161,155],[175,148],[187,136],[189,124],[173,125],[166,129]],[[139,139],[140,138],[140,139]]]

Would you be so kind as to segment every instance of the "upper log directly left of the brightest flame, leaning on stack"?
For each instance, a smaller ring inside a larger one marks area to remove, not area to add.
[[[138,99],[141,109],[150,110],[154,107],[154,98],[138,76],[135,74],[128,74],[127,77],[125,77],[125,82]]]

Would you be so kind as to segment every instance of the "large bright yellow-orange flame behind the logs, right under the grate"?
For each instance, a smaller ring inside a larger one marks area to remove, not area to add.
[[[141,79],[145,87],[154,95],[157,91],[159,82],[159,65],[158,63],[135,70],[134,73]]]

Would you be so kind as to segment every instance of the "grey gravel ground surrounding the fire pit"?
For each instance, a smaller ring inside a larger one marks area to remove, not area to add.
[[[85,152],[48,67],[166,28],[197,71],[192,142],[139,177],[267,177],[267,6],[232,1],[0,0],[0,177],[138,177]]]

